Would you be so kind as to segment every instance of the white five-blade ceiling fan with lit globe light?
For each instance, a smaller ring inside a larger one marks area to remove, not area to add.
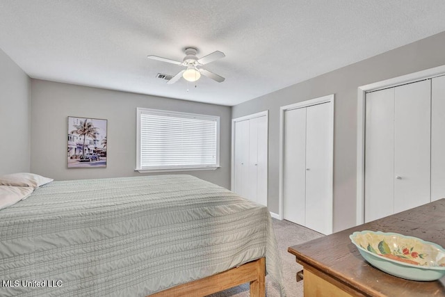
[[[198,79],[200,79],[201,74],[209,77],[210,79],[213,79],[214,81],[218,81],[218,83],[222,83],[225,80],[224,77],[220,77],[218,74],[214,74],[209,70],[198,68],[198,66],[206,65],[207,63],[211,63],[213,61],[219,60],[220,58],[224,58],[225,54],[222,51],[213,51],[213,53],[208,54],[207,56],[197,58],[197,48],[186,47],[184,49],[184,54],[186,54],[186,56],[184,57],[182,62],[152,55],[147,56],[147,58],[187,67],[186,69],[178,72],[175,77],[172,77],[172,79],[167,82],[168,84],[177,82],[181,77],[184,77],[186,81],[197,81]]]

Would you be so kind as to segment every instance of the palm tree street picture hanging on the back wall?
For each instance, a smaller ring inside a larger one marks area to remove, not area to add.
[[[68,168],[106,168],[107,120],[68,117]]]

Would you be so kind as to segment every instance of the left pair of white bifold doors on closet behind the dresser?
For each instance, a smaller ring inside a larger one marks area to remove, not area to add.
[[[430,81],[366,94],[365,221],[430,202]]]

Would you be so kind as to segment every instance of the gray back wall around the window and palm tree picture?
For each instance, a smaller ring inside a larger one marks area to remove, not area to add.
[[[136,108],[220,116],[217,170],[176,172],[230,187],[231,108],[31,79],[31,171],[54,179],[141,175],[136,168]],[[108,120],[107,167],[67,169],[67,116]],[[159,174],[159,173],[156,173]],[[169,174],[175,174],[169,173]]]

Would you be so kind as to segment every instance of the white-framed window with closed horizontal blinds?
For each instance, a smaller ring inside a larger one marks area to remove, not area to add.
[[[219,167],[220,118],[213,115],[137,109],[136,170],[140,172]]]

